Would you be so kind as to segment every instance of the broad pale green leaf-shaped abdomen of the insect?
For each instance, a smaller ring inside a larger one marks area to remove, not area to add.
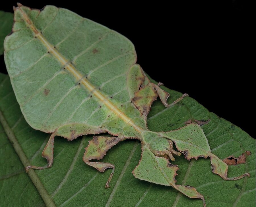
[[[67,9],[21,6],[4,45],[16,98],[33,128],[102,126],[116,123],[120,112],[145,126],[140,112],[129,107],[126,76],[136,52],[121,34]]]

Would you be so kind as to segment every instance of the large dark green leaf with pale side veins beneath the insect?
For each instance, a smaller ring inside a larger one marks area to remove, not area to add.
[[[12,128],[22,149],[32,164],[45,165],[41,152],[49,135],[32,129],[24,120],[16,102],[8,76],[0,76],[0,110]],[[171,94],[169,103],[181,93],[164,87]],[[148,115],[152,131],[169,131],[184,126],[188,119],[207,120],[202,126],[212,152],[220,158],[239,156],[250,150],[245,164],[229,166],[230,177],[250,172],[251,177],[237,181],[224,181],[210,170],[210,160],[197,161],[177,157],[177,184],[196,187],[205,196],[207,206],[255,206],[255,140],[239,127],[208,112],[194,99],[188,97],[172,108],[155,101]],[[115,164],[112,187],[104,185],[111,170],[100,173],[82,161],[84,147],[91,136],[67,141],[55,139],[55,158],[52,168],[36,171],[56,206],[202,206],[199,199],[190,199],[169,186],[156,185],[136,179],[132,170],[141,156],[140,143],[123,141],[114,146],[103,161]],[[44,203],[24,171],[24,167],[1,128],[1,194],[2,206],[44,206]]]

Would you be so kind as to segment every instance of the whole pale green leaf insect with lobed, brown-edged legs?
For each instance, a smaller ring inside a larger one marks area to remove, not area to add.
[[[135,48],[127,38],[55,6],[37,10],[18,4],[14,11],[12,33],[4,42],[7,70],[28,124],[51,133],[42,152],[48,165],[27,166],[27,171],[52,166],[55,136],[71,141],[81,135],[108,133],[111,137],[95,136],[89,141],[83,156],[86,164],[100,172],[112,168],[106,188],[115,166],[99,160],[125,139],[141,141],[141,160],[132,172],[136,178],[172,186],[190,198],[202,199],[204,206],[204,196],[194,187],[176,185],[175,156],[210,157],[212,172],[225,180],[249,177],[249,173],[227,176],[227,164],[211,153],[195,120],[174,131],[147,128],[147,115],[157,97],[168,108],[187,94],[169,104],[162,84],[152,83],[136,64]]]

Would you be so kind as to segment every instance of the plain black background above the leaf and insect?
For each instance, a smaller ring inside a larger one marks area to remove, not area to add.
[[[135,45],[137,62],[150,77],[188,93],[255,137],[255,66],[250,65],[251,27],[243,1],[20,3],[37,9],[49,4],[67,8],[123,34]],[[0,9],[13,12],[13,5],[16,1],[8,1]]]

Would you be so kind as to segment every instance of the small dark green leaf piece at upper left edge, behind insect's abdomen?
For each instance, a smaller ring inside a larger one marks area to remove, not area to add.
[[[3,55],[3,42],[5,36],[11,33],[13,25],[13,14],[10,12],[0,11],[0,55]]]

